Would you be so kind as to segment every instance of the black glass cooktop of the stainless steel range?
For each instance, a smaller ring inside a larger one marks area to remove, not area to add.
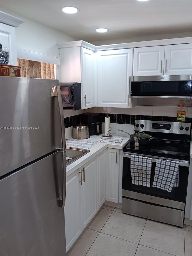
[[[140,144],[139,149],[134,149],[134,144],[129,142],[123,148],[123,151],[166,158],[190,160],[190,142],[173,142],[154,139],[149,145]]]

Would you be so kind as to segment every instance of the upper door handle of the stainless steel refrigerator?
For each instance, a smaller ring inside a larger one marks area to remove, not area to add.
[[[58,107],[59,107],[59,116],[60,116],[60,126],[61,126],[61,149],[65,150],[65,126],[64,126],[64,116],[63,116],[63,105],[61,98],[61,89],[60,86],[51,86],[51,96],[55,96],[58,99]]]

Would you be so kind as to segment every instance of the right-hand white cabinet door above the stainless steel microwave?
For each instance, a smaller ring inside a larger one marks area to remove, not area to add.
[[[165,46],[164,75],[192,74],[192,44]]]

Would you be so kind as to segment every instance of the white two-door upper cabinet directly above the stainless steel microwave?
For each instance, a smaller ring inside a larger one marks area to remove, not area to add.
[[[191,44],[134,49],[133,76],[191,74]]]

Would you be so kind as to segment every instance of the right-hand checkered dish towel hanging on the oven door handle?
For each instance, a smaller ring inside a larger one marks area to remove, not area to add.
[[[173,187],[179,186],[179,162],[157,159],[153,187],[171,192]]]

